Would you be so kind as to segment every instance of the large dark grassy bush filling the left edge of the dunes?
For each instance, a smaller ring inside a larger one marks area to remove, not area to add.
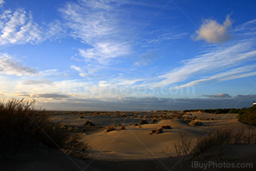
[[[34,101],[0,102],[0,153],[15,153],[40,142],[59,149],[67,140],[61,126],[51,123],[45,111],[34,110]]]

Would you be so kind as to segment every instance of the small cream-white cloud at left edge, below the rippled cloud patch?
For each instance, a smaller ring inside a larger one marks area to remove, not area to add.
[[[28,66],[23,66],[18,60],[7,53],[0,53],[0,73],[4,75],[35,75],[37,71]]]

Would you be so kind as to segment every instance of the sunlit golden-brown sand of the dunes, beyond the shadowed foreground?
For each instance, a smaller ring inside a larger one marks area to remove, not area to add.
[[[244,124],[237,121],[236,114],[191,113],[187,115],[190,118],[194,116],[200,118],[204,126],[189,126],[181,119],[162,120],[151,124],[151,119],[148,118],[148,124],[131,126],[130,123],[139,123],[140,119],[129,118],[124,121],[124,118],[121,117],[99,115],[83,115],[83,119],[80,119],[79,115],[53,115],[50,118],[52,121],[72,126],[81,126],[86,121],[102,126],[126,123],[126,130],[115,130],[108,133],[101,130],[94,134],[82,134],[82,141],[89,142],[91,147],[91,158],[100,160],[156,159],[176,156],[173,142],[179,140],[180,132],[186,132],[189,137],[197,138],[198,135],[204,134],[208,127],[216,124]],[[206,120],[206,118],[214,118],[214,120]],[[164,129],[161,134],[149,134],[151,129],[157,129],[162,125],[170,125],[172,129]]]

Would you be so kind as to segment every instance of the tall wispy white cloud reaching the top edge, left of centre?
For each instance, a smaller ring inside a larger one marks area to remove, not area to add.
[[[89,45],[80,49],[80,56],[86,61],[105,64],[110,58],[129,53],[129,45],[120,39],[117,26],[118,1],[78,1],[69,2],[60,12],[72,30],[72,37]]]

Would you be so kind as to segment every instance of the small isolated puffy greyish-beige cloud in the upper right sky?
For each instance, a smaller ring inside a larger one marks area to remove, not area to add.
[[[232,23],[229,15],[227,15],[223,24],[217,23],[216,20],[204,20],[196,34],[192,36],[192,39],[203,39],[208,43],[226,42],[231,37],[230,28]]]

